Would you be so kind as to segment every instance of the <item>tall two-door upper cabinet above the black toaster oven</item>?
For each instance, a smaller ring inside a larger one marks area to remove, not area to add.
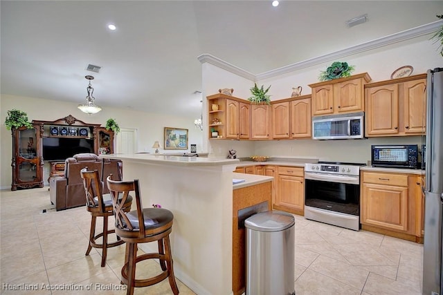
[[[366,136],[423,135],[426,74],[365,85]]]

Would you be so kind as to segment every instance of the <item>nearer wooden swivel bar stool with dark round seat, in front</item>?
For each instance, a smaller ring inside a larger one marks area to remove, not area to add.
[[[122,267],[122,283],[127,285],[127,294],[134,294],[134,287],[146,287],[160,283],[169,278],[172,292],[179,294],[174,277],[172,254],[169,235],[172,231],[174,215],[162,208],[143,208],[141,203],[138,180],[116,181],[112,175],[107,177],[107,185],[111,193],[116,217],[116,234],[126,242],[125,265]],[[130,212],[123,210],[129,192],[134,191],[137,209]],[[121,198],[118,198],[121,196]],[[158,253],[137,256],[137,244],[157,241]],[[136,263],[156,258],[160,261],[163,272],[152,278],[136,279]]]

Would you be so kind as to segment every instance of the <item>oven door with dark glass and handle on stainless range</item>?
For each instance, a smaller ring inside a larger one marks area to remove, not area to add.
[[[359,176],[305,172],[305,206],[360,215]]]

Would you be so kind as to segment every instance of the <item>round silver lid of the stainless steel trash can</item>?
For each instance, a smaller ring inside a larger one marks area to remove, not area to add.
[[[264,211],[244,220],[246,228],[257,231],[282,231],[295,223],[295,218],[283,211]]]

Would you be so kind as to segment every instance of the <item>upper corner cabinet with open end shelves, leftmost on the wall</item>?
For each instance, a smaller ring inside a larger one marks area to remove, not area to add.
[[[209,138],[214,138],[211,129],[215,129],[221,139],[249,139],[251,105],[248,101],[221,93],[207,99]]]

